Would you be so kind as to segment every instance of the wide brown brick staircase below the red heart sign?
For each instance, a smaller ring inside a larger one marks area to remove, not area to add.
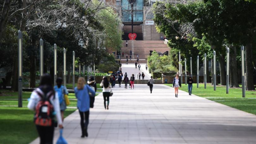
[[[128,46],[126,47],[125,41],[122,44],[121,53],[124,52],[124,57],[121,57],[121,63],[126,62],[126,54],[128,55],[128,63],[135,63],[137,59],[137,54],[139,55],[139,63],[147,63],[147,57],[149,56],[149,51],[157,51],[164,53],[169,51],[170,48],[164,44],[162,40],[134,40],[134,61],[130,61],[130,51],[132,49],[131,40],[128,41]]]

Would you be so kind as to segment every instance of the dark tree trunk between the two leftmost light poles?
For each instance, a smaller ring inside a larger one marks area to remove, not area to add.
[[[36,58],[34,56],[31,56],[30,58],[30,80],[29,84],[30,87],[34,88],[35,86],[35,81],[36,81]]]

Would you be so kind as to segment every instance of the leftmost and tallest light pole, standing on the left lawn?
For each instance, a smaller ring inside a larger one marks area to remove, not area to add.
[[[19,78],[18,78],[18,107],[22,107],[22,32],[18,31],[18,68],[19,68]]]

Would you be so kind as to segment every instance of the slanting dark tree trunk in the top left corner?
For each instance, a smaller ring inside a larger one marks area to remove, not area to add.
[[[3,32],[5,30],[8,16],[9,16],[9,9],[10,9],[11,0],[4,0],[3,8],[1,11],[1,17],[0,17],[0,41],[3,38]]]

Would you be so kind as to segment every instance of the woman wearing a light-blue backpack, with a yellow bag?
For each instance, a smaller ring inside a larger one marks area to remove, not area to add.
[[[54,90],[58,93],[59,97],[59,104],[60,104],[60,112],[61,112],[61,118],[62,121],[64,120],[64,111],[67,109],[66,102],[64,95],[69,94],[67,91],[67,88],[64,87],[62,84],[62,78],[58,77],[56,80],[57,86],[54,86]]]

